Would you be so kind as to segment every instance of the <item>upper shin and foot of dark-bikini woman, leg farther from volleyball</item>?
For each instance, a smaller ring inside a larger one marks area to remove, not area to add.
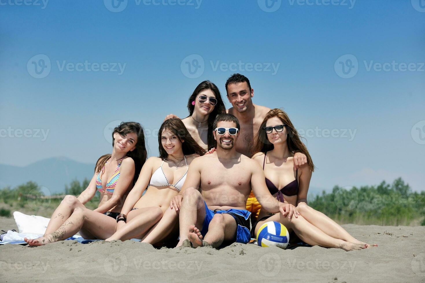
[[[297,205],[297,211],[304,217],[304,219],[309,221],[309,223],[319,228],[321,231],[323,231],[323,233],[331,236],[332,238],[341,239],[343,241],[354,244],[366,244],[351,236],[346,230],[344,230],[343,227],[338,225],[328,216],[321,213],[320,211],[313,209],[312,207],[309,207],[304,202]]]

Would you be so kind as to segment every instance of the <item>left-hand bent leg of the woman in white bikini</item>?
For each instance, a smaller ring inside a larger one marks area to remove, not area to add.
[[[128,213],[127,223],[117,230],[106,241],[130,240],[131,238],[142,238],[144,233],[150,229],[162,217],[159,207],[144,207],[132,210]]]

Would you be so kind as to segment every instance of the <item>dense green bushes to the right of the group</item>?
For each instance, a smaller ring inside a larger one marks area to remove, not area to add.
[[[377,186],[335,186],[309,205],[339,223],[425,226],[425,191],[412,192],[401,178]]]

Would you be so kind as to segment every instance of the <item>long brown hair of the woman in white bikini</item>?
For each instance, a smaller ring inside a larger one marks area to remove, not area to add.
[[[178,137],[178,140],[181,142],[181,149],[183,150],[184,155],[188,154],[199,154],[204,155],[205,150],[198,145],[198,143],[193,139],[190,133],[187,131],[184,123],[178,118],[172,118],[165,120],[159,128],[158,132],[158,143],[159,143],[159,157],[162,160],[167,160],[168,153],[162,147],[161,135],[162,131],[167,130],[172,132]],[[182,142],[184,140],[184,142]]]

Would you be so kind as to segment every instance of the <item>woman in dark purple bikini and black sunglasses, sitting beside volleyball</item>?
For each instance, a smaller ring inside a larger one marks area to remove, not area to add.
[[[272,109],[261,123],[254,139],[252,157],[264,170],[266,185],[270,193],[280,202],[296,206],[301,217],[283,219],[282,223],[307,244],[322,247],[339,247],[345,250],[364,249],[368,244],[352,237],[323,213],[307,205],[307,193],[314,164],[306,146],[301,142],[300,135],[281,109]],[[307,163],[294,170],[294,152],[302,152],[307,157]],[[278,214],[261,209],[258,221],[252,227],[255,237],[258,228],[268,221],[281,220]]]

